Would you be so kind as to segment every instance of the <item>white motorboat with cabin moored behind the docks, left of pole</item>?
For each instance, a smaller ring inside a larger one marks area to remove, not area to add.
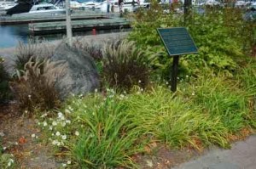
[[[65,8],[58,8],[52,3],[40,3],[36,5],[32,5],[32,8],[29,12],[13,14],[12,16],[46,16],[46,15],[57,15],[57,14],[65,14]]]

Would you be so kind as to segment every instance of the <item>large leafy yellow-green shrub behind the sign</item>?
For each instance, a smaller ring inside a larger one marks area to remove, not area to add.
[[[137,14],[129,39],[137,42],[138,48],[145,51],[156,76],[167,79],[172,58],[167,55],[156,28],[183,26],[183,15],[164,14],[160,11],[153,6]],[[244,57],[243,49],[253,45],[255,24],[242,20],[241,12],[236,9],[209,8],[204,14],[194,12],[191,20],[187,28],[199,54],[187,54],[181,58],[179,76],[198,76],[212,70],[215,73],[224,71],[226,75],[232,76],[238,67],[236,59]]]

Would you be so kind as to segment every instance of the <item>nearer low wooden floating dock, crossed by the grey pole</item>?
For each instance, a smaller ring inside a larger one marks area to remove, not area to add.
[[[91,31],[129,28],[130,21],[123,18],[102,18],[97,20],[72,20],[73,31]],[[29,31],[33,35],[44,35],[66,32],[66,22],[45,22],[29,24]]]

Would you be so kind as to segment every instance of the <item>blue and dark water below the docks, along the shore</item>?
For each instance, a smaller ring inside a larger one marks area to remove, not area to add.
[[[96,31],[97,34],[119,32],[120,30],[104,30]],[[121,30],[129,31],[129,29]],[[92,31],[73,32],[73,37],[92,35]],[[46,41],[54,41],[62,39],[65,34],[52,34],[44,36],[29,35],[28,25],[0,25],[0,48],[15,47],[19,42],[27,42],[29,39],[44,39]]]

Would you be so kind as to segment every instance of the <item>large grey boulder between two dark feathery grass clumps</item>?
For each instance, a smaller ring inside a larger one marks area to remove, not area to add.
[[[65,64],[66,74],[58,79],[57,91],[61,95],[61,99],[67,97],[68,94],[84,94],[94,91],[99,87],[99,76],[94,60],[90,54],[82,54],[76,48],[71,48],[67,43],[62,42],[55,49],[52,61],[58,61]]]

